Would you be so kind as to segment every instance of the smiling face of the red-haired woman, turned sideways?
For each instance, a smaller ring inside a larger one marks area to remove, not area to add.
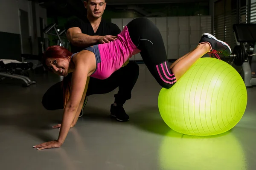
[[[59,76],[67,76],[69,73],[70,61],[67,58],[48,58],[46,64],[50,70]]]

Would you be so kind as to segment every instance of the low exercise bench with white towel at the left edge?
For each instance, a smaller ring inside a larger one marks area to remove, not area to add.
[[[23,80],[23,87],[28,87],[36,82],[25,76],[25,71],[32,69],[32,62],[19,62],[17,60],[0,59],[0,81],[6,77]],[[19,72],[19,74],[15,74]]]

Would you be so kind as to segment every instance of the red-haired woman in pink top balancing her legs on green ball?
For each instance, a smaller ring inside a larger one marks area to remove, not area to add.
[[[141,54],[145,65],[163,88],[171,88],[176,81],[204,54],[229,56],[230,47],[211,34],[203,34],[195,50],[177,59],[169,66],[163,39],[157,27],[146,18],[137,18],[110,43],[94,45],[76,54],[65,48],[51,46],[44,53],[44,64],[60,76],[73,72],[71,93],[66,95],[63,120],[58,140],[35,145],[38,150],[60,147],[70,127],[76,124],[88,85],[87,79],[108,78],[129,57]],[[220,58],[219,58],[220,59]]]

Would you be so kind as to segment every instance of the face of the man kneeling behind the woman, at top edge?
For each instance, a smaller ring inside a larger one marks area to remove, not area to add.
[[[84,1],[84,7],[87,8],[87,14],[90,17],[99,18],[106,8],[105,0],[88,0]]]

